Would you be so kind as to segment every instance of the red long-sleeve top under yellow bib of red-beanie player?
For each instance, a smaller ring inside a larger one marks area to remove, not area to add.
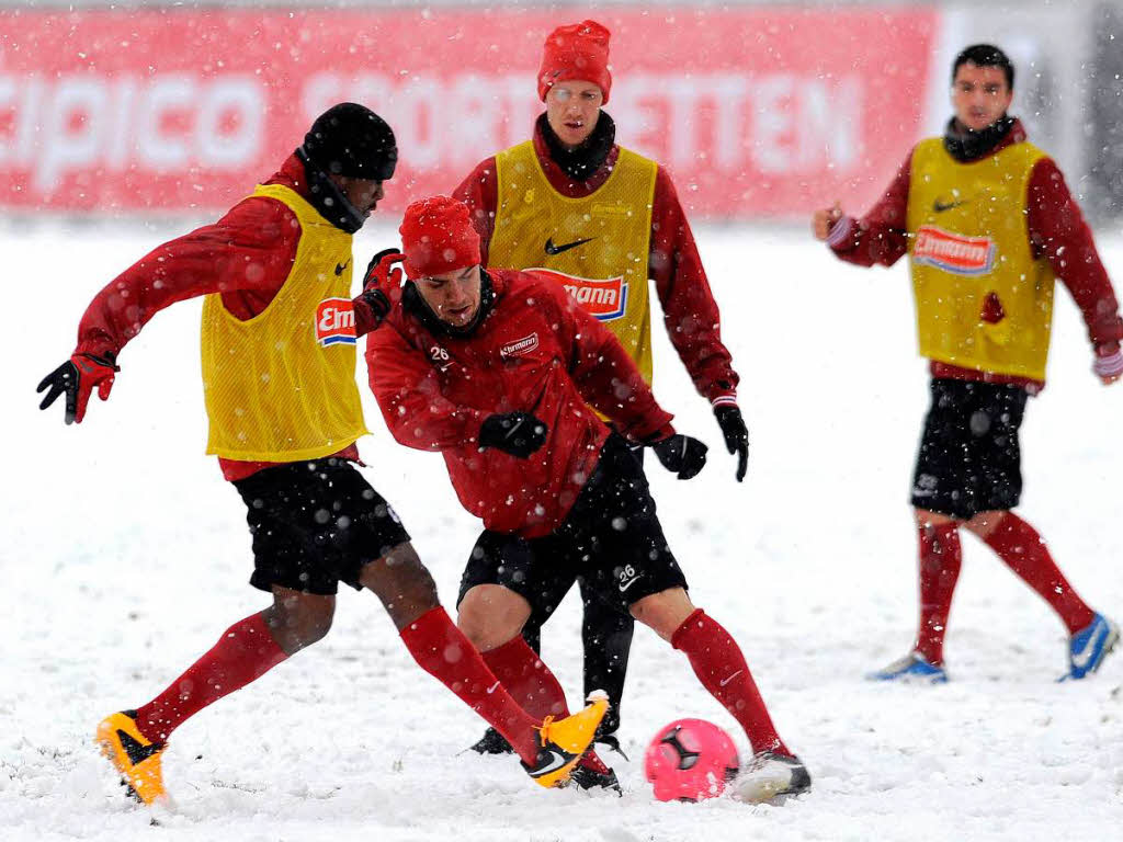
[[[604,163],[586,181],[575,182],[550,158],[546,140],[537,127],[533,144],[549,183],[570,199],[586,196],[604,184],[620,153],[620,147],[613,146]],[[486,266],[499,208],[495,158],[478,164],[454,195],[474,211]],[[739,377],[733,370],[732,356],[721,341],[721,315],[686,213],[670,176],[661,166],[655,177],[648,272],[663,306],[667,335],[695,388],[711,403],[732,402],[737,396]]]

